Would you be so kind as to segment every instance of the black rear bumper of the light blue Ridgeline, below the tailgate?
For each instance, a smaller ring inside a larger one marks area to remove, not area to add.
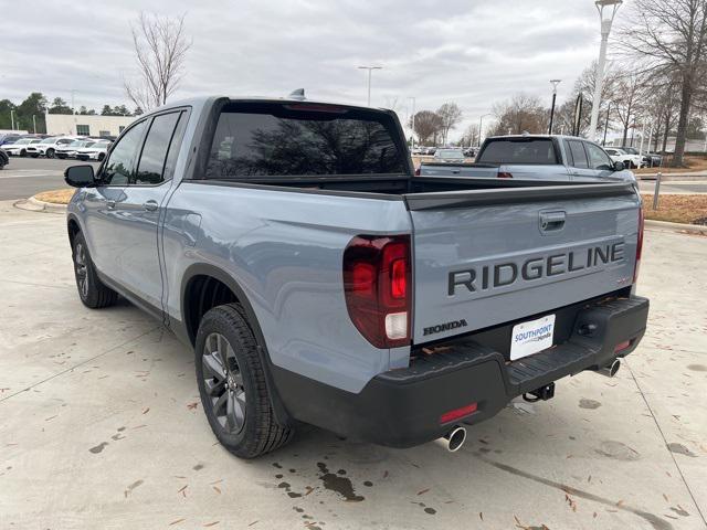
[[[437,344],[446,349],[415,358],[410,368],[377,375],[358,394],[277,367],[272,367],[273,380],[297,421],[380,445],[411,447],[439,438],[454,424],[494,416],[523,393],[625,357],[645,332],[648,300],[594,301],[574,315],[566,341],[515,362],[471,336]],[[626,340],[630,346],[615,353],[615,346]],[[443,413],[469,403],[477,403],[475,413],[440,424]]]

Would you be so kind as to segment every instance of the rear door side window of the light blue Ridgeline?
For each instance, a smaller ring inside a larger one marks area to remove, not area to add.
[[[155,186],[166,180],[165,163],[170,151],[170,145],[172,142],[175,145],[178,144],[172,140],[172,137],[176,136],[175,129],[181,115],[182,113],[179,112],[161,114],[152,119],[135,179],[130,179],[131,184]]]

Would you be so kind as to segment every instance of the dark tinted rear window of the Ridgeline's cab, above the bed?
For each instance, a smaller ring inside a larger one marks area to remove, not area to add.
[[[208,179],[407,172],[387,114],[314,104],[234,104],[219,117]]]

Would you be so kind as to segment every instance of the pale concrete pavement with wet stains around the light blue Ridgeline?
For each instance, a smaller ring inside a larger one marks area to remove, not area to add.
[[[209,430],[191,351],[126,303],[81,305],[63,220],[0,202],[2,529],[706,527],[703,236],[646,232],[650,328],[614,379],[564,379],[455,454],[307,428],[243,462]]]

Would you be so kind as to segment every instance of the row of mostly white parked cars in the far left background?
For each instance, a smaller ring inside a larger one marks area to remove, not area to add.
[[[75,158],[78,160],[102,161],[108,152],[112,140],[80,136],[53,136],[46,138],[19,137],[14,141],[2,144],[1,148],[13,157]]]

